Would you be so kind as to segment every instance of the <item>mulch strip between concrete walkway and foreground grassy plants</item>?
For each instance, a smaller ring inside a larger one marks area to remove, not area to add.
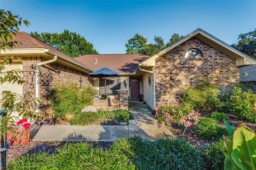
[[[10,146],[7,149],[7,163],[18,158],[19,156],[27,155],[27,154],[36,154],[41,151],[47,152],[47,154],[49,155],[54,154],[57,151],[57,148],[59,148],[62,145],[65,145],[65,143],[70,143],[70,142],[35,141],[35,142],[29,142],[25,146],[21,146],[21,145]],[[108,149],[113,144],[113,142],[107,142],[107,141],[87,142],[87,143],[91,143],[93,147],[100,147],[103,149]]]

